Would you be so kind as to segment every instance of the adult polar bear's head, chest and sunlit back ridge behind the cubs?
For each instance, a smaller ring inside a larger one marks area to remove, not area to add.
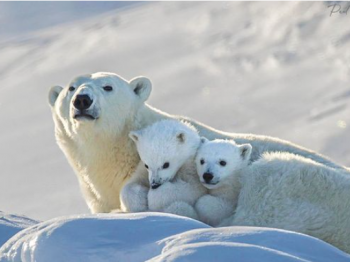
[[[127,81],[113,73],[83,75],[66,88],[54,86],[50,89],[49,103],[57,143],[75,170],[92,213],[110,212],[120,207],[120,190],[140,160],[129,132],[165,118],[184,119],[146,104],[151,90],[151,81],[145,77]],[[250,143],[253,160],[263,152],[286,151],[334,168],[344,168],[287,141],[220,132],[186,120],[210,140],[231,138],[238,144]]]

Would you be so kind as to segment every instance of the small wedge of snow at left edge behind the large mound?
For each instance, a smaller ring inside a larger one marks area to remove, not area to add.
[[[0,247],[19,231],[37,224],[33,219],[0,211]]]

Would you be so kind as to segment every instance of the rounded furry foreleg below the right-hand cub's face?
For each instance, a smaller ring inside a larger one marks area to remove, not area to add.
[[[233,214],[234,206],[233,203],[222,198],[204,195],[198,199],[195,210],[200,221],[215,227]]]

